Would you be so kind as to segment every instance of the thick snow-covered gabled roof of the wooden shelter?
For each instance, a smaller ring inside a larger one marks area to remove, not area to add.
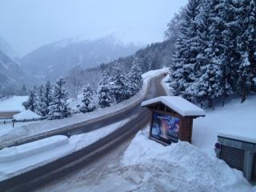
[[[176,111],[182,116],[205,116],[204,110],[195,106],[193,103],[187,101],[185,98],[178,96],[161,96],[158,98],[151,98],[145,102],[142,102],[142,106],[150,106],[154,103],[162,102],[162,104],[168,106],[170,109]]]

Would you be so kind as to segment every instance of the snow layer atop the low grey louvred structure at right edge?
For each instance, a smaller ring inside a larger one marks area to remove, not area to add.
[[[246,124],[242,124],[246,126]],[[218,136],[223,138],[233,138],[243,142],[252,142],[256,144],[256,131],[255,127],[247,126],[246,129],[229,129],[229,130],[219,130]]]

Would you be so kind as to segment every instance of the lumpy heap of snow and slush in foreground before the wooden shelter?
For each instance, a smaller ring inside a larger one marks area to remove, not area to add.
[[[124,154],[118,150],[114,152],[118,154],[94,163],[95,168],[86,167],[40,191],[256,191],[241,171],[231,169],[197,146],[188,142],[162,146],[148,135],[149,126],[138,132]]]

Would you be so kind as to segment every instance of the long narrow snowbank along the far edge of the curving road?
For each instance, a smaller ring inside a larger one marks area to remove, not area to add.
[[[70,126],[78,122],[85,122],[93,118],[99,118],[105,115],[109,115],[111,113],[116,113],[119,110],[132,107],[133,105],[139,103],[142,100],[142,98],[146,96],[147,85],[148,85],[148,82],[150,82],[150,79],[158,76],[159,74],[162,74],[165,71],[166,69],[150,70],[145,74],[142,74],[144,83],[143,83],[142,89],[138,92],[138,94],[114,106],[106,107],[104,109],[94,110],[93,112],[90,112],[87,114],[76,114],[70,118],[64,118],[61,120],[51,120],[51,121],[45,120],[42,122],[33,122],[33,123],[25,123],[25,124],[19,123],[15,125],[14,129],[12,129],[12,126],[10,125],[6,126],[6,125],[0,124],[0,130],[2,130],[2,132],[0,131],[0,136],[1,136],[0,145],[5,144],[6,142],[10,142],[14,138],[15,139],[25,138],[34,134],[40,134],[49,130]],[[0,102],[0,106],[1,106],[1,102]]]

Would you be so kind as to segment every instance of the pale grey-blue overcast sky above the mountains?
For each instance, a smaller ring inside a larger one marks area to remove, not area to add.
[[[0,0],[0,36],[23,56],[39,46],[83,35],[118,34],[125,42],[162,41],[187,0]]]

